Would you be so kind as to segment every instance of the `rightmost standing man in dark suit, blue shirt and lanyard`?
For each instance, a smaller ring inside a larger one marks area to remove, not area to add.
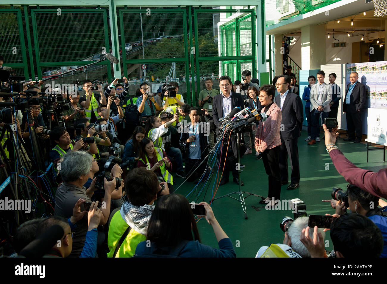
[[[342,106],[342,111],[346,114],[348,138],[344,141],[353,141],[359,143],[362,135],[361,114],[360,110],[365,103],[366,91],[365,85],[358,82],[359,74],[352,72],[349,75],[349,83],[345,90],[345,98]],[[356,136],[355,136],[356,130]]]

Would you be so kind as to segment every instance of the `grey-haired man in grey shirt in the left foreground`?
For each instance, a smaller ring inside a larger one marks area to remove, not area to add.
[[[61,176],[63,183],[58,186],[55,194],[55,215],[70,218],[73,214],[74,204],[79,198],[85,199],[86,202],[92,202],[91,196],[96,188],[94,179],[88,189],[84,187],[87,180],[94,177],[94,173],[98,171],[98,164],[96,159],[93,160],[92,156],[84,151],[70,151],[67,155],[64,155],[61,163]],[[115,190],[116,179],[108,182],[104,178],[104,190],[105,195],[103,201],[104,206],[101,206],[103,216],[99,224],[106,224],[110,214],[110,197],[111,193]],[[83,206],[81,205],[80,210]],[[77,222],[77,227],[74,229],[73,248],[70,257],[79,257],[85,240],[87,231],[87,216],[83,216]]]

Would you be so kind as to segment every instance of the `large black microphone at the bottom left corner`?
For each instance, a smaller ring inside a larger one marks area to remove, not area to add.
[[[45,255],[58,240],[62,240],[65,231],[59,225],[54,225],[35,240],[31,241],[25,248],[21,250],[19,255],[24,257],[39,258]]]

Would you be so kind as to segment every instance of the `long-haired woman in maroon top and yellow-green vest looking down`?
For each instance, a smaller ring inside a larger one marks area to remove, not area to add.
[[[152,139],[146,137],[141,141],[139,158],[137,167],[146,167],[147,170],[163,177],[164,181],[168,183],[168,188],[173,192],[173,177],[167,170],[167,168],[172,169],[172,164],[165,151],[161,148],[154,148]]]

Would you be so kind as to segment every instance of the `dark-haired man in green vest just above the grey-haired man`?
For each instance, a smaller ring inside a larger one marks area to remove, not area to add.
[[[71,144],[70,135],[67,130],[60,126],[55,126],[50,133],[51,140],[57,144],[50,151],[50,158],[54,164],[55,170],[57,171],[57,163],[63,155],[67,154],[68,151],[78,151],[83,148],[83,140],[79,139],[74,145]]]

